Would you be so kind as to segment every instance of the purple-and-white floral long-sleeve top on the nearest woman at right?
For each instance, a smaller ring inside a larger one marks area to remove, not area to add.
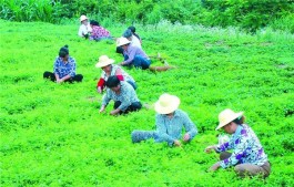
[[[267,156],[260,139],[246,124],[239,125],[230,141],[216,147],[216,152],[225,152],[227,149],[233,149],[233,153],[231,157],[221,162],[223,168],[234,166],[237,163],[261,166],[267,162]]]

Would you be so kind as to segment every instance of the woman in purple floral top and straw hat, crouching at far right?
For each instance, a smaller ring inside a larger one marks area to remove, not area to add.
[[[223,128],[232,136],[229,142],[222,145],[211,145],[205,148],[206,153],[211,150],[220,153],[221,162],[211,166],[210,170],[235,166],[235,172],[241,177],[246,175],[267,177],[271,173],[267,156],[260,139],[252,128],[244,124],[244,120],[243,112],[235,113],[226,108],[220,113],[220,124],[216,129]],[[233,153],[226,152],[229,149],[233,149]]]

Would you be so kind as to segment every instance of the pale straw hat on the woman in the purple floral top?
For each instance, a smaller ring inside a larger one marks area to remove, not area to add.
[[[227,125],[230,122],[236,120],[237,117],[242,116],[244,112],[239,112],[235,113],[230,108],[226,108],[222,111],[219,114],[219,126],[215,128],[216,131],[220,129],[221,127]]]

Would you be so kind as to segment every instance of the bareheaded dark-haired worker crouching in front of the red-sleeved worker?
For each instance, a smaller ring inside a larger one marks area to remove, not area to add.
[[[139,111],[142,107],[134,89],[126,82],[120,81],[118,76],[109,76],[107,81],[107,93],[103,95],[100,113],[105,111],[109,102],[114,101],[114,108],[111,115],[126,114]]]

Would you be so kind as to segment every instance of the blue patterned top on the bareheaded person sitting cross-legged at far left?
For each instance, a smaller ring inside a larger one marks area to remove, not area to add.
[[[75,60],[69,56],[68,62],[63,62],[61,58],[57,58],[53,66],[54,74],[58,74],[60,79],[70,75],[75,75]]]

